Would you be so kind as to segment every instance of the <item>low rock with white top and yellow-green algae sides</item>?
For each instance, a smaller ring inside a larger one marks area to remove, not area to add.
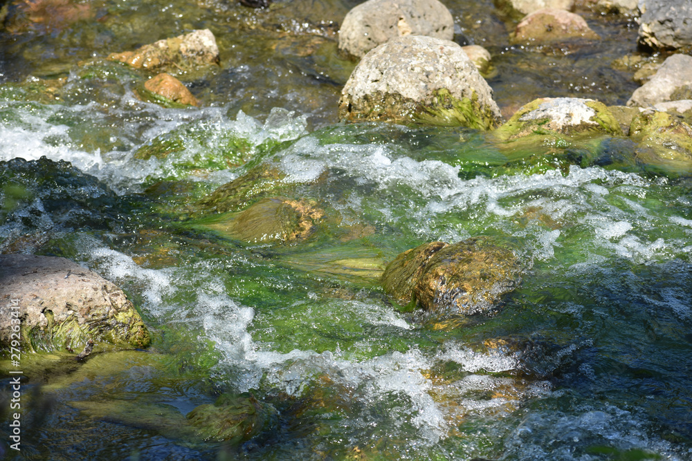
[[[493,135],[513,141],[544,135],[621,135],[620,125],[608,107],[576,97],[540,98],[519,109]]]

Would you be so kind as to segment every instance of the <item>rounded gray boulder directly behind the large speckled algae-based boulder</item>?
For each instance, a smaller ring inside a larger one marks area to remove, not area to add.
[[[368,0],[350,10],[339,30],[339,50],[362,57],[388,40],[428,35],[451,40],[452,15],[438,0]]]

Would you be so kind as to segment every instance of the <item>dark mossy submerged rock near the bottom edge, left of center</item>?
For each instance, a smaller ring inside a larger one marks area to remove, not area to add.
[[[276,409],[250,397],[222,395],[215,404],[200,405],[188,413],[188,421],[205,440],[240,443],[277,426]]]

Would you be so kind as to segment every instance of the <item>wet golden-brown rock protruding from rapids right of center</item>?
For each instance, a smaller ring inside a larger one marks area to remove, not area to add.
[[[435,314],[475,314],[497,305],[522,275],[518,256],[492,238],[448,245],[433,242],[408,250],[390,263],[383,288],[400,304],[413,300]]]

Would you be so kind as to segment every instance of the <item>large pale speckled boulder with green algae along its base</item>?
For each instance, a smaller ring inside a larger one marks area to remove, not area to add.
[[[413,35],[363,57],[341,93],[339,118],[475,129],[502,122],[492,89],[461,46]]]

